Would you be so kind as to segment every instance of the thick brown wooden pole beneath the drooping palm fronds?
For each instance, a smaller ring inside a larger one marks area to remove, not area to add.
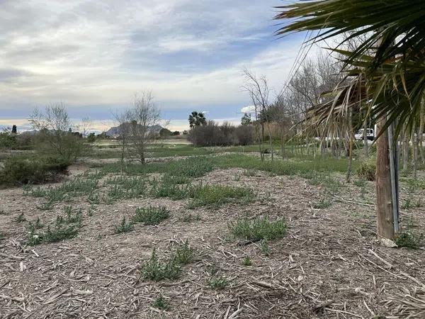
[[[382,118],[377,125],[378,133],[385,123]],[[394,239],[394,217],[392,212],[392,189],[390,172],[390,145],[385,130],[376,141],[376,208],[378,239]]]

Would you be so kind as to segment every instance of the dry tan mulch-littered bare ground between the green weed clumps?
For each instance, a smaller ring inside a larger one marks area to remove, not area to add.
[[[74,167],[69,178],[85,169]],[[88,216],[90,204],[74,198],[72,206],[84,211],[79,235],[30,247],[28,223],[16,218],[24,213],[27,220],[48,223],[70,203],[41,211],[43,198],[23,196],[20,188],[0,190],[0,318],[425,318],[425,252],[375,240],[372,182],[365,184],[364,198],[348,184],[329,208],[316,209],[324,189],[300,177],[226,169],[200,180],[248,186],[255,201],[189,210],[186,200],[140,198],[96,205]],[[423,198],[424,191],[414,196]],[[166,206],[171,218],[114,235],[122,216],[149,205]],[[186,223],[186,213],[198,213],[200,220]],[[424,225],[424,208],[402,213]],[[240,245],[230,236],[227,223],[243,216],[285,217],[288,234],[271,241],[266,256],[259,243]],[[194,260],[179,279],[140,279],[138,269],[154,248],[167,254],[186,239]],[[242,264],[246,255],[251,266]],[[212,272],[227,279],[225,289],[210,288]],[[152,306],[159,294],[168,310]]]

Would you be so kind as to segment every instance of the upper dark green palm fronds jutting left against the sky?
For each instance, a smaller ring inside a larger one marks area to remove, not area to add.
[[[375,50],[376,55],[368,65],[368,69],[375,70],[396,56],[409,61],[425,48],[424,0],[298,1],[276,8],[282,12],[275,19],[293,21],[278,29],[277,35],[321,30],[311,39],[319,41],[351,33],[343,43],[366,35],[366,40],[348,57],[348,65]]]

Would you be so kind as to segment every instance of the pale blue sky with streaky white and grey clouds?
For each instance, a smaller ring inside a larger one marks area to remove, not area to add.
[[[246,67],[279,91],[304,35],[278,38],[280,0],[0,0],[0,128],[29,129],[33,108],[62,102],[74,123],[113,125],[152,91],[171,130],[191,111],[240,123]]]

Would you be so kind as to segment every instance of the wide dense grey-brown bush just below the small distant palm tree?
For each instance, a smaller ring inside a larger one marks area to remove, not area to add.
[[[229,146],[249,145],[254,140],[251,126],[240,125],[237,128],[230,123],[218,125],[208,121],[206,125],[196,126],[191,129],[188,140],[198,146]]]

